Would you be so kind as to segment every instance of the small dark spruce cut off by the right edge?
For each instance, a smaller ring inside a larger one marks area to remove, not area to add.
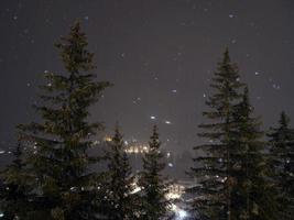
[[[270,167],[273,182],[279,190],[277,201],[281,204],[280,216],[293,219],[294,215],[294,130],[290,128],[290,119],[283,111],[279,127],[271,128],[270,133]]]

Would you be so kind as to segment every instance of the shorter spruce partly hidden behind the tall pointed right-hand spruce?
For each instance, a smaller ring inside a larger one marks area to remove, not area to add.
[[[261,122],[252,114],[253,107],[246,88],[242,101],[236,106],[233,112],[231,219],[276,219],[275,190],[269,182]]]

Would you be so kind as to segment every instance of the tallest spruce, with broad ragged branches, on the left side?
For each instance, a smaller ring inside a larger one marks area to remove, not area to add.
[[[108,81],[95,81],[94,54],[87,51],[87,37],[79,22],[70,28],[56,47],[64,74],[45,73],[40,105],[34,106],[40,121],[21,124],[22,136],[34,145],[28,162],[34,180],[29,219],[95,219],[98,174],[89,166],[97,158],[88,154],[91,136],[102,128],[87,121]]]

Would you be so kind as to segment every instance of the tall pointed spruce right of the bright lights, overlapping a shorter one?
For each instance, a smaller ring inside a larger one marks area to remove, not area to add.
[[[203,112],[208,122],[199,125],[203,132],[198,136],[207,142],[194,147],[197,157],[194,158],[196,165],[192,167],[190,175],[200,187],[193,187],[192,191],[196,196],[194,209],[202,219],[231,219],[230,153],[233,146],[230,139],[233,108],[240,101],[239,90],[243,86],[239,79],[238,68],[231,63],[227,48],[211,78],[214,94],[206,101],[209,111]]]

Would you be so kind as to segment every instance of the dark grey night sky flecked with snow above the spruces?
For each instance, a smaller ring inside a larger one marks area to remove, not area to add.
[[[77,18],[115,84],[92,110],[107,132],[118,120],[144,142],[157,123],[167,148],[192,148],[226,46],[265,128],[283,109],[294,120],[293,0],[1,0],[0,148],[35,119],[44,70],[63,72],[53,44]]]

